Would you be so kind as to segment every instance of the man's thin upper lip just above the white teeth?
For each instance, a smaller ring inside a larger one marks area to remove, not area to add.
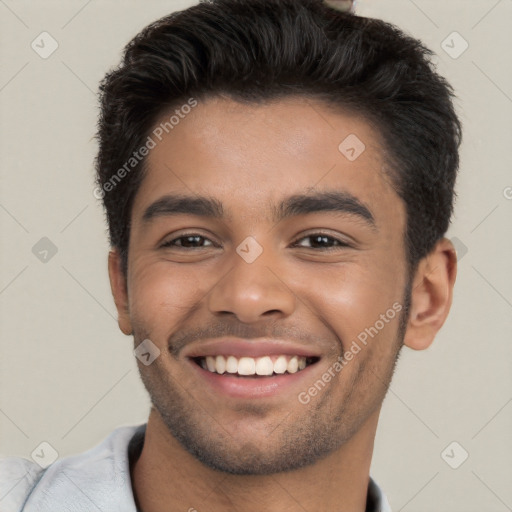
[[[302,357],[320,357],[318,353],[305,347],[286,340],[273,339],[242,339],[222,338],[202,341],[192,344],[184,351],[185,357],[206,357],[206,356],[234,356],[240,357],[263,357],[272,355],[290,355]]]

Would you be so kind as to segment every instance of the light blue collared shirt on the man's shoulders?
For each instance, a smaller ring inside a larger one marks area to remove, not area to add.
[[[1,512],[137,512],[130,458],[137,458],[146,424],[115,429],[98,446],[43,469],[20,457],[0,459]],[[374,480],[366,512],[391,512]]]

